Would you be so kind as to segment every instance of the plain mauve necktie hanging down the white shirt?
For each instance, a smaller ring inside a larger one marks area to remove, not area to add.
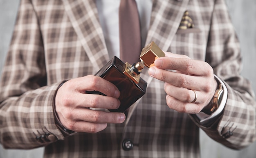
[[[121,0],[119,7],[120,58],[133,64],[139,61],[141,34],[135,0]]]

